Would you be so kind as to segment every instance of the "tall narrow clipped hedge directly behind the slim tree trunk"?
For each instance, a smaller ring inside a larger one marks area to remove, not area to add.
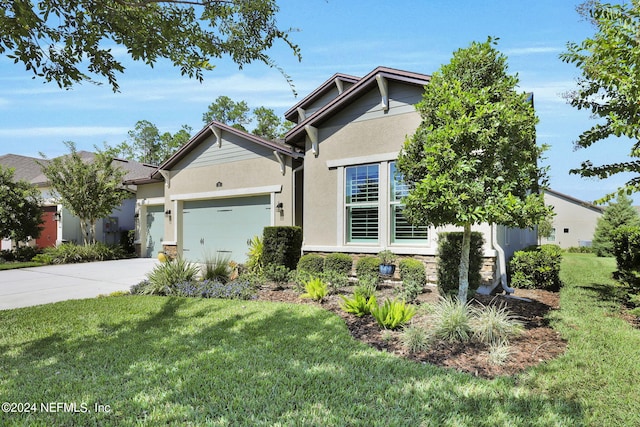
[[[471,232],[469,249],[469,291],[472,296],[482,282],[484,239],[482,233]],[[462,232],[454,231],[438,235],[438,291],[442,296],[457,296],[459,287],[460,256],[462,255]]]

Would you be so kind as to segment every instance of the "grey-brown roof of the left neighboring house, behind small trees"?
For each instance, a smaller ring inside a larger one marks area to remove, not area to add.
[[[77,153],[80,158],[85,161],[92,161],[96,156],[96,153],[90,151],[78,151]],[[17,154],[0,156],[0,165],[15,169],[13,176],[16,180],[24,180],[41,187],[46,186],[48,180],[42,173],[42,168],[38,163],[46,164],[47,162],[49,162],[47,159],[37,159],[35,157],[20,156]],[[112,164],[126,171],[124,181],[133,180],[141,176],[148,176],[157,169],[156,166],[125,159],[113,159]]]

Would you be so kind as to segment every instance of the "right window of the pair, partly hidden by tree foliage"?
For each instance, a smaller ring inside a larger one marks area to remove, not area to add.
[[[396,162],[389,163],[391,243],[426,243],[428,226],[412,225],[402,214],[402,198],[409,193],[409,186],[396,171]]]

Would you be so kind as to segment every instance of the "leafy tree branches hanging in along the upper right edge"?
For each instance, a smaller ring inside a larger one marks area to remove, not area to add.
[[[570,173],[605,179],[618,173],[640,172],[640,1],[621,5],[589,0],[578,8],[595,26],[595,34],[580,44],[568,43],[560,58],[575,64],[582,75],[578,87],[566,96],[569,103],[588,110],[601,119],[584,131],[575,142],[576,148],[589,147],[609,137],[631,140],[630,160],[594,165],[590,160]],[[629,180],[617,193],[631,194],[640,190],[640,177]],[[616,192],[597,202],[606,202]]]

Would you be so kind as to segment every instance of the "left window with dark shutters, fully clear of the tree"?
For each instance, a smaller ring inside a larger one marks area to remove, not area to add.
[[[348,167],[345,177],[347,242],[378,241],[379,166]]]

